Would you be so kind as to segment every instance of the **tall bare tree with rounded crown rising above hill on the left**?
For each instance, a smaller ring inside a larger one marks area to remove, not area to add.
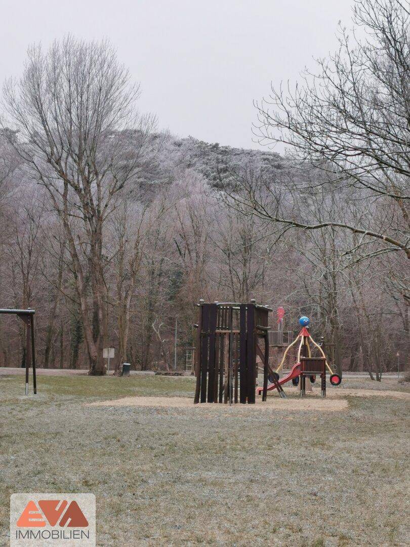
[[[107,41],[68,36],[46,53],[31,46],[21,79],[8,80],[3,91],[3,125],[19,131],[16,148],[48,190],[65,230],[90,374],[104,374],[103,226],[141,168],[154,121],[134,114],[138,86]]]

